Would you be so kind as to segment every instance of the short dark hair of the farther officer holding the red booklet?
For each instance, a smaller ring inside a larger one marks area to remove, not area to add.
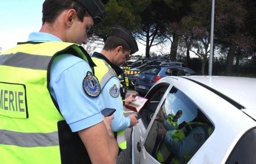
[[[123,38],[120,38],[118,36],[113,36],[113,35],[110,35],[108,37],[108,39],[105,42],[103,50],[107,50],[107,51],[114,50],[118,46],[122,46],[123,51],[131,51],[131,48],[130,48],[128,42],[126,42],[126,40],[124,40]]]

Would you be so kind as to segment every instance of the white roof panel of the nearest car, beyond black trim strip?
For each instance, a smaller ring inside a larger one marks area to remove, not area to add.
[[[225,76],[184,76],[184,78],[222,93],[242,105],[244,109],[256,108],[256,78]]]

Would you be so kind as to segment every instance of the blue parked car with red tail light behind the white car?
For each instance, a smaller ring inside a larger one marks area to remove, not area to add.
[[[139,95],[146,95],[148,90],[157,82],[159,79],[166,76],[187,76],[197,75],[195,71],[186,67],[179,66],[168,66],[168,65],[155,65],[147,66],[137,76],[135,82],[135,90]]]

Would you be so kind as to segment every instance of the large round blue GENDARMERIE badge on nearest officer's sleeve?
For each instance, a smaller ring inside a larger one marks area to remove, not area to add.
[[[98,79],[89,71],[83,79],[83,89],[90,97],[97,97],[101,93],[101,86],[99,85]]]

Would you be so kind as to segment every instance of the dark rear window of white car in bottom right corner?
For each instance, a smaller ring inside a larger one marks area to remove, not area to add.
[[[251,129],[245,133],[238,141],[236,147],[231,152],[226,164],[252,164],[256,163],[256,129]]]

